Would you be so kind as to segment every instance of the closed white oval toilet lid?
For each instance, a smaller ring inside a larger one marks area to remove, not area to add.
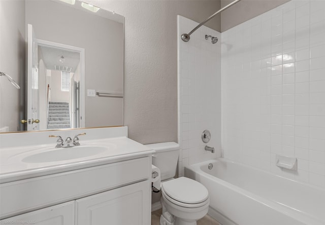
[[[162,183],[164,192],[178,202],[196,204],[208,199],[209,193],[204,185],[187,177],[179,177]]]

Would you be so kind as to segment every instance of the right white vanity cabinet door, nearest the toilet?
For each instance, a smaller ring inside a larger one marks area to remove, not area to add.
[[[149,180],[76,200],[78,225],[149,225]]]

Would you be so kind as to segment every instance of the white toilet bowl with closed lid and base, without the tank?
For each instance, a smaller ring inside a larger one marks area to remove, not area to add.
[[[161,184],[163,214],[160,225],[196,225],[209,210],[208,190],[196,180],[187,177]]]

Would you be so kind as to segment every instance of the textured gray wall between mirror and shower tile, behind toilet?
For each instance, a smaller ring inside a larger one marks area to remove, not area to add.
[[[201,22],[220,8],[220,1],[87,2],[125,16],[124,125],[129,138],[143,144],[177,141],[176,16]],[[219,31],[220,18],[207,25]]]

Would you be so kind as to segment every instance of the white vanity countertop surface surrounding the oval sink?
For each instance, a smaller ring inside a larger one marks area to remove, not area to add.
[[[1,148],[0,183],[109,164],[154,153],[151,148],[127,137],[80,140],[80,145],[104,146],[109,148],[109,150],[78,159],[27,163],[23,162],[22,159],[29,155],[42,153],[46,151],[46,148],[53,148],[55,142],[43,145]]]

